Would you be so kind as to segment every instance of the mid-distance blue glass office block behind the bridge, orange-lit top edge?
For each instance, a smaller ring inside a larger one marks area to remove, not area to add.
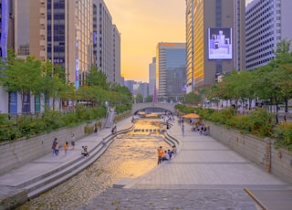
[[[185,43],[159,43],[156,49],[156,85],[159,100],[183,96],[185,84]]]

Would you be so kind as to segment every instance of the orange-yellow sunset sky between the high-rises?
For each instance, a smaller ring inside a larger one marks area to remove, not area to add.
[[[185,42],[184,0],[104,0],[120,31],[120,71],[125,80],[149,82],[159,42]]]

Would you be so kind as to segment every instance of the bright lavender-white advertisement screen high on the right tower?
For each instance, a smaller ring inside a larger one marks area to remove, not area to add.
[[[209,59],[232,59],[232,28],[209,27]]]

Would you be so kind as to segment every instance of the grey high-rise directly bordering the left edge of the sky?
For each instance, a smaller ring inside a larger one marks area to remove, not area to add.
[[[103,0],[93,0],[95,64],[107,75],[109,82],[120,84],[120,33]],[[96,17],[95,17],[96,16]]]

